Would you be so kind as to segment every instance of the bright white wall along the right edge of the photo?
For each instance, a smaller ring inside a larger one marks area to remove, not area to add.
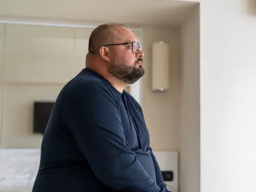
[[[201,192],[256,191],[255,9],[201,3]]]

